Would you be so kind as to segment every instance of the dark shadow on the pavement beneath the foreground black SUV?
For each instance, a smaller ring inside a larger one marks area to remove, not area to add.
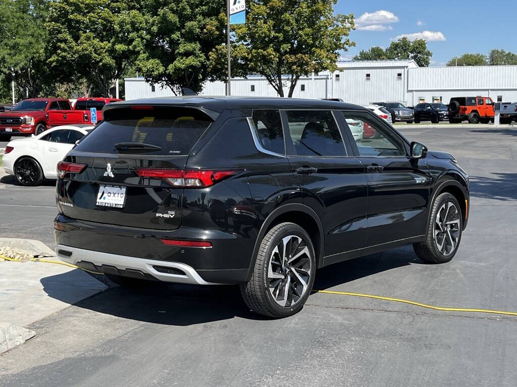
[[[410,250],[410,251],[409,251]],[[384,255],[387,254],[387,255]],[[314,289],[322,290],[359,278],[410,264],[421,264],[408,247],[342,262],[317,270]],[[68,297],[55,286],[70,272],[41,279],[43,290],[68,303]],[[80,284],[78,284],[80,286]],[[267,320],[251,312],[236,285],[186,285],[149,281],[138,289],[112,287],[86,298],[75,307],[97,313],[155,324],[189,326],[234,317]]]

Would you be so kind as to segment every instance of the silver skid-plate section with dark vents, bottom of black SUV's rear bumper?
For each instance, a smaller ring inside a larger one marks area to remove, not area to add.
[[[65,245],[56,246],[60,260],[88,270],[125,277],[157,279],[164,282],[211,285],[189,265],[179,262],[147,260],[134,256],[109,254]]]

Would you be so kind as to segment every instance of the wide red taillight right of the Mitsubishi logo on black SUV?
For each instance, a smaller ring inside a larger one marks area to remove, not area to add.
[[[237,173],[235,170],[135,168],[141,178],[161,179],[173,187],[204,188]]]

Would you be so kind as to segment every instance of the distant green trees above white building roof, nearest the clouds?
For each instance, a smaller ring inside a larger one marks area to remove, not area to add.
[[[403,37],[391,42],[386,50],[378,46],[368,51],[362,50],[354,60],[413,59],[418,66],[428,67],[432,56],[433,53],[428,50],[425,40],[416,39],[412,42]]]

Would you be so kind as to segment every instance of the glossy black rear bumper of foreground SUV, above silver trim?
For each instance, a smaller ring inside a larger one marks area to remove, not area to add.
[[[153,263],[151,266],[158,265],[180,270],[181,267],[186,268],[186,270],[191,268],[206,283],[235,284],[247,281],[254,247],[253,238],[240,237],[233,232],[224,230],[187,227],[180,227],[174,231],[135,229],[79,221],[63,215],[58,215],[54,222],[59,228],[59,230],[54,230],[56,245],[65,246],[68,249],[73,248],[87,251],[92,254],[91,256],[95,255],[98,257],[99,261],[88,259],[90,255],[84,259],[85,262],[96,266],[99,266],[96,262],[100,263],[100,267],[92,269],[92,266],[90,266],[90,270],[105,271],[102,266],[111,265],[123,270],[122,272],[112,272],[121,276],[131,277],[131,275],[124,272],[126,268],[129,268],[141,270],[145,275],[152,276],[153,278],[151,279],[166,281],[167,279],[162,278],[169,278],[169,281],[173,279],[172,282],[181,282],[175,281],[174,279],[177,279],[175,277],[163,277],[163,273],[157,276],[156,273],[159,271],[156,269],[154,271],[147,270],[148,266],[144,262],[151,262]],[[167,246],[160,239],[205,240],[210,241],[212,247]],[[59,257],[63,255],[60,254]],[[116,257],[127,257],[126,261],[130,261],[131,264],[138,267],[126,264],[119,267],[120,260],[115,259]],[[63,258],[66,262],[69,262],[66,255]],[[108,259],[113,259],[114,261],[111,262]],[[76,261],[79,262],[77,259]],[[142,264],[134,264],[134,262],[142,262]],[[155,262],[158,264],[155,264]],[[146,270],[142,270],[142,266]],[[194,281],[189,283],[202,282]]]

